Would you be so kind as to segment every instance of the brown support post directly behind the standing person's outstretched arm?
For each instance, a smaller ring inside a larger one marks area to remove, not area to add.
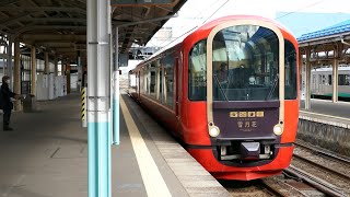
[[[20,42],[14,42],[13,92],[21,94],[21,49]],[[14,102],[14,111],[21,111],[21,101]]]

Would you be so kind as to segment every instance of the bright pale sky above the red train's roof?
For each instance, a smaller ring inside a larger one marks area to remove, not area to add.
[[[350,20],[350,0],[187,0],[178,16],[168,20],[164,27],[172,27],[176,38],[206,22],[233,14],[276,20],[300,37]],[[155,43],[151,39],[148,46]]]

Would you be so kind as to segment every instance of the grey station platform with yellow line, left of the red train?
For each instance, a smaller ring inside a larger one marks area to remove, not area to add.
[[[13,113],[14,130],[0,131],[0,196],[86,197],[88,132],[81,127],[80,95],[38,105],[36,113]],[[230,196],[126,94],[120,108],[112,196]]]

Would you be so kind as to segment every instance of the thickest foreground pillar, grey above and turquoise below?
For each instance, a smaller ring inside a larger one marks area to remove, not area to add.
[[[89,197],[110,197],[109,4],[88,0]]]

